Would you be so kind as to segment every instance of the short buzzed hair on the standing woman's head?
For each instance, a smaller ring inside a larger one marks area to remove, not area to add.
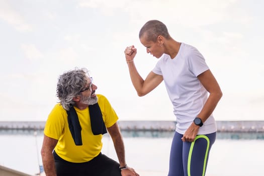
[[[139,31],[139,39],[145,35],[146,40],[155,42],[159,35],[169,39],[167,27],[158,20],[150,20]]]

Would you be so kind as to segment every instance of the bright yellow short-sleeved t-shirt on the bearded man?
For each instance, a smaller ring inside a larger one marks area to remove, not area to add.
[[[98,104],[101,109],[106,127],[114,125],[118,116],[103,95],[97,95]],[[96,157],[102,149],[103,135],[94,135],[91,128],[89,108],[79,110],[74,107],[81,126],[82,145],[75,145],[71,136],[67,112],[60,104],[55,105],[46,121],[44,134],[50,138],[57,139],[56,153],[64,160],[70,162],[86,162]]]

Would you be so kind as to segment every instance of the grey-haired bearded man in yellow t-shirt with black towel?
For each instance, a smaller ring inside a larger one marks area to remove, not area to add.
[[[86,69],[60,75],[59,103],[48,116],[41,149],[44,170],[50,175],[139,175],[125,160],[118,116]],[[102,137],[109,132],[119,163],[102,154]]]

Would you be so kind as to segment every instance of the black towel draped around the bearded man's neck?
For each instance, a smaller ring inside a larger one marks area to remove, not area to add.
[[[107,133],[106,125],[103,120],[103,115],[98,103],[94,105],[89,105],[89,113],[91,119],[91,127],[94,135]],[[82,145],[81,140],[81,126],[77,116],[77,113],[73,106],[70,106],[68,114],[68,124],[71,136],[74,140],[75,145]]]

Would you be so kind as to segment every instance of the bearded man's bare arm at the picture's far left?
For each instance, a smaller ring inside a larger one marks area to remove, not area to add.
[[[43,144],[41,148],[41,156],[46,176],[56,176],[56,168],[52,151],[56,146],[57,142],[58,140],[44,135]]]

